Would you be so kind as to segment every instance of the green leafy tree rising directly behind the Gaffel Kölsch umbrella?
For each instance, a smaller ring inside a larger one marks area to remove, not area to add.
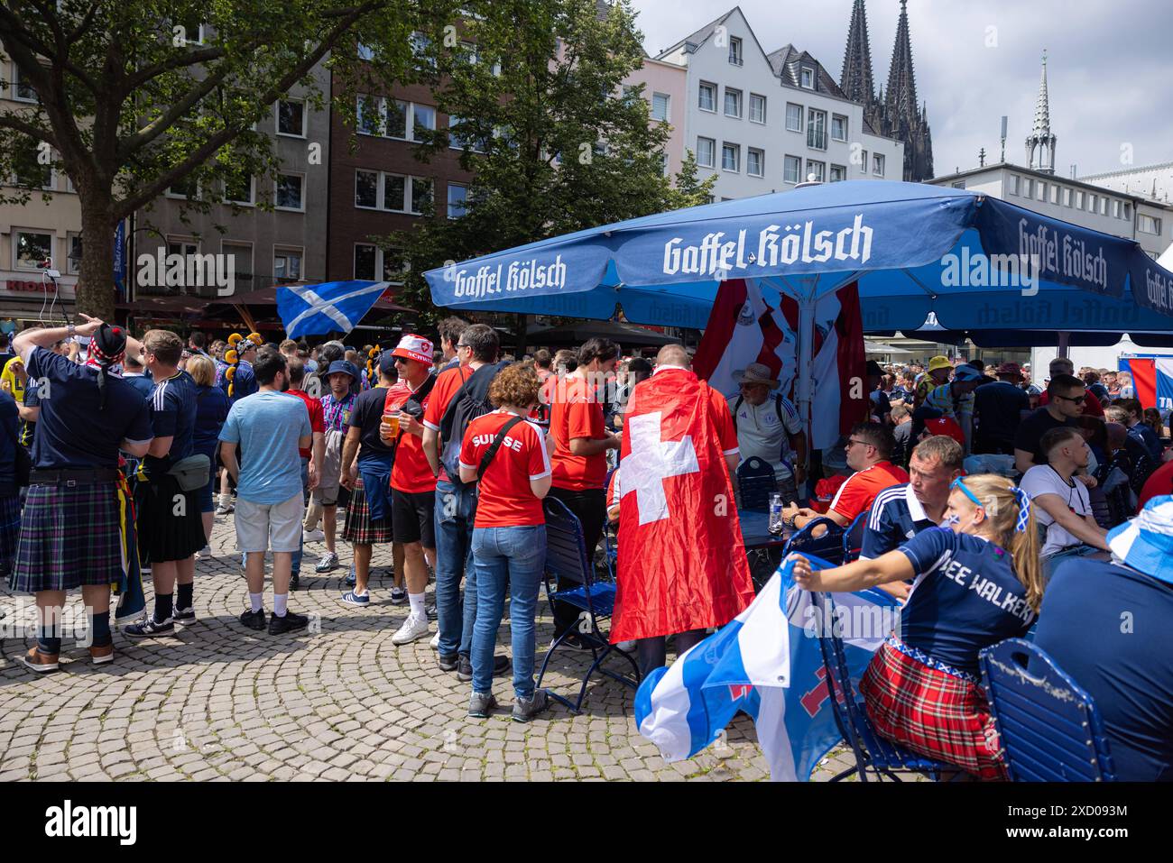
[[[452,142],[474,174],[465,213],[382,238],[401,253],[402,301],[428,311],[422,278],[465,260],[570,231],[706,203],[689,154],[665,176],[670,129],[652,123],[643,86],[624,80],[644,61],[629,0],[491,0],[429,45],[434,94],[447,129],[415,151],[427,162]]]

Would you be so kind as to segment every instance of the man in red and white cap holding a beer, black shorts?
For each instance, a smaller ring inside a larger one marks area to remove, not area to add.
[[[399,429],[394,435],[395,466],[391,469],[392,536],[404,544],[404,576],[407,579],[407,602],[411,613],[392,636],[392,644],[408,644],[428,634],[428,617],[423,605],[423,590],[428,586],[428,566],[423,549],[435,551],[433,508],[436,478],[423,454],[423,423],[420,417],[404,412],[411,399],[427,412],[434,379],[432,378],[432,342],[422,335],[408,333],[391,352],[399,369],[399,382],[387,390],[384,414],[399,410]],[[421,397],[422,396],[422,397]],[[408,406],[408,407],[412,407]],[[380,432],[386,434],[386,423]]]

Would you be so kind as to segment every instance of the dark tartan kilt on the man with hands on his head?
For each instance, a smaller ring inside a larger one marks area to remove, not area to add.
[[[22,593],[73,590],[122,578],[115,483],[29,485],[9,584]]]

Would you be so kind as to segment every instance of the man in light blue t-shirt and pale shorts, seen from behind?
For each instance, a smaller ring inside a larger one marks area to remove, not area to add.
[[[313,442],[310,412],[289,389],[285,358],[263,351],[255,365],[260,389],[232,405],[221,430],[221,461],[236,480],[236,541],[245,552],[249,609],[240,623],[265,627],[265,552],[273,552],[273,617],[269,634],[305,628],[308,619],[289,611],[293,552],[301,543],[301,449]],[[249,454],[242,467],[237,448]]]

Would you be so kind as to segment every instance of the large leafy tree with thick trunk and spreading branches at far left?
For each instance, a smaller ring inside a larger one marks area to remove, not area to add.
[[[331,97],[311,76],[320,62],[333,73],[333,107],[353,128],[354,94],[411,80],[419,70],[412,33],[441,29],[455,7],[448,0],[5,0],[0,54],[15,63],[33,100],[0,107],[0,177],[19,179],[0,201],[29,202],[47,169],[69,176],[84,238],[77,308],[110,317],[122,219],[172,186],[198,189],[189,205],[206,212],[239,178],[276,177],[272,138],[255,125],[294,86],[320,108]]]

